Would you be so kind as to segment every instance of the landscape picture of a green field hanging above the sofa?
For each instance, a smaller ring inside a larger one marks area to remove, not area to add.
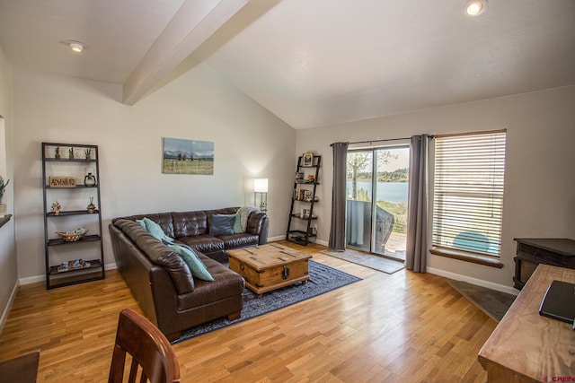
[[[164,137],[164,174],[214,174],[214,143]]]

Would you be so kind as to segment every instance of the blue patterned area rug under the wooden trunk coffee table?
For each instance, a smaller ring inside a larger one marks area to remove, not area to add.
[[[313,260],[309,261],[309,281],[307,283],[295,283],[282,287],[272,292],[264,292],[258,299],[255,293],[248,289],[243,292],[242,318],[229,321],[226,318],[217,319],[204,325],[190,328],[183,332],[180,338],[172,344],[179,344],[198,335],[207,334],[219,328],[234,325],[250,318],[259,317],[276,309],[282,309],[290,305],[308,300],[325,292],[339,289],[349,283],[361,281],[361,278],[344,273],[327,265],[322,265]]]

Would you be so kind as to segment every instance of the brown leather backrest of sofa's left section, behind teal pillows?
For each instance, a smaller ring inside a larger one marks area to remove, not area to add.
[[[173,284],[178,294],[186,294],[194,291],[194,280],[190,274],[190,268],[185,262],[152,234],[147,232],[135,221],[126,219],[118,220],[114,223],[130,239],[132,239],[140,250],[156,265],[162,265],[172,278]]]

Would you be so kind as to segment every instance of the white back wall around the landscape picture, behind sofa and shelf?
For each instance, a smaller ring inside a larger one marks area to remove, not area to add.
[[[40,143],[100,145],[105,262],[108,224],[133,213],[253,203],[252,178],[270,178],[270,237],[285,233],[295,130],[198,65],[140,100],[120,86],[14,68],[14,168],[19,277],[44,274]],[[215,143],[213,176],[162,174],[162,137]],[[86,205],[89,201],[86,201]]]

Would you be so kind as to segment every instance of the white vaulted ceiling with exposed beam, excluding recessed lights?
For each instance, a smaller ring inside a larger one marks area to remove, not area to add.
[[[575,84],[575,1],[464,3],[0,0],[0,44],[16,66],[122,84],[128,104],[208,65],[296,129]]]

